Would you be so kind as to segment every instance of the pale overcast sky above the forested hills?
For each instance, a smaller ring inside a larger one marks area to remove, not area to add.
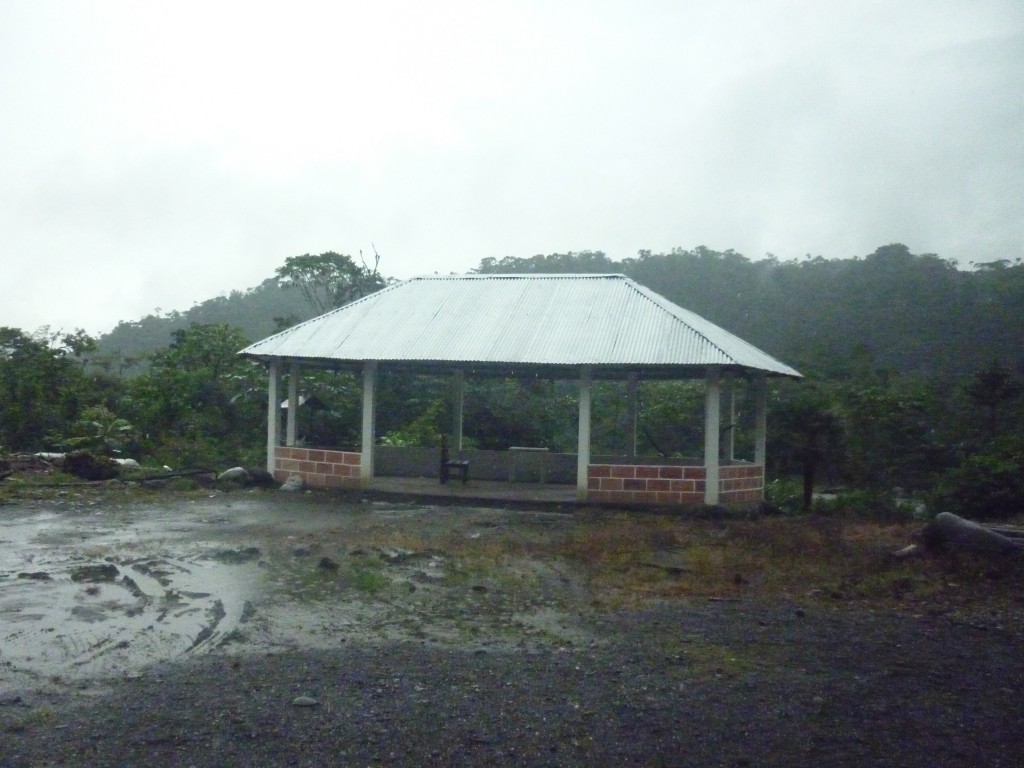
[[[1021,0],[0,0],[0,326],[673,247],[1024,255]],[[373,244],[373,245],[372,245]]]

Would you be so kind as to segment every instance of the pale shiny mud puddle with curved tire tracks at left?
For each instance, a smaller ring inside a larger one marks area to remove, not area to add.
[[[0,520],[0,668],[15,680],[134,674],[216,648],[243,623],[263,579],[252,552],[217,560],[209,542],[182,547],[174,540],[200,523],[180,516],[109,517]]]

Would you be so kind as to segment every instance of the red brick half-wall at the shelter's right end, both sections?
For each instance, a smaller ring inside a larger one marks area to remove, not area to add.
[[[718,500],[723,505],[756,504],[764,498],[764,467],[719,467]],[[648,504],[691,507],[705,503],[707,470],[652,464],[592,464],[587,468],[587,500],[598,504]]]

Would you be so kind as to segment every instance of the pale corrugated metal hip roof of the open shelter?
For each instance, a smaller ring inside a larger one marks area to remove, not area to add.
[[[442,365],[726,366],[800,376],[622,274],[414,278],[241,353]]]

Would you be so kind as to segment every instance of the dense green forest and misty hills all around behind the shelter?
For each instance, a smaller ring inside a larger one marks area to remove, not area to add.
[[[955,503],[978,517],[1022,509],[1020,259],[963,269],[902,245],[790,261],[700,247],[622,261],[590,251],[488,258],[475,271],[621,272],[795,366],[805,380],[771,393],[770,498],[779,506],[807,506],[804,489],[828,484],[846,489],[845,508],[874,513],[903,513],[900,499],[924,499],[933,509]],[[387,283],[379,257],[371,267],[336,253],[306,254],[286,259],[255,288],[124,322],[99,339],[0,329],[0,447],[89,445],[178,466],[258,464],[263,372],[234,352]],[[305,386],[324,409],[319,436],[355,440],[356,383],[324,373]],[[570,383],[474,386],[467,429],[477,445],[571,445]],[[596,450],[615,451],[622,398],[618,385],[602,386]],[[645,385],[642,451],[699,447],[702,424],[687,414],[698,390]],[[383,439],[434,440],[447,423],[444,394],[443,382],[391,377],[382,392]],[[741,420],[738,429],[742,442],[749,428]]]

